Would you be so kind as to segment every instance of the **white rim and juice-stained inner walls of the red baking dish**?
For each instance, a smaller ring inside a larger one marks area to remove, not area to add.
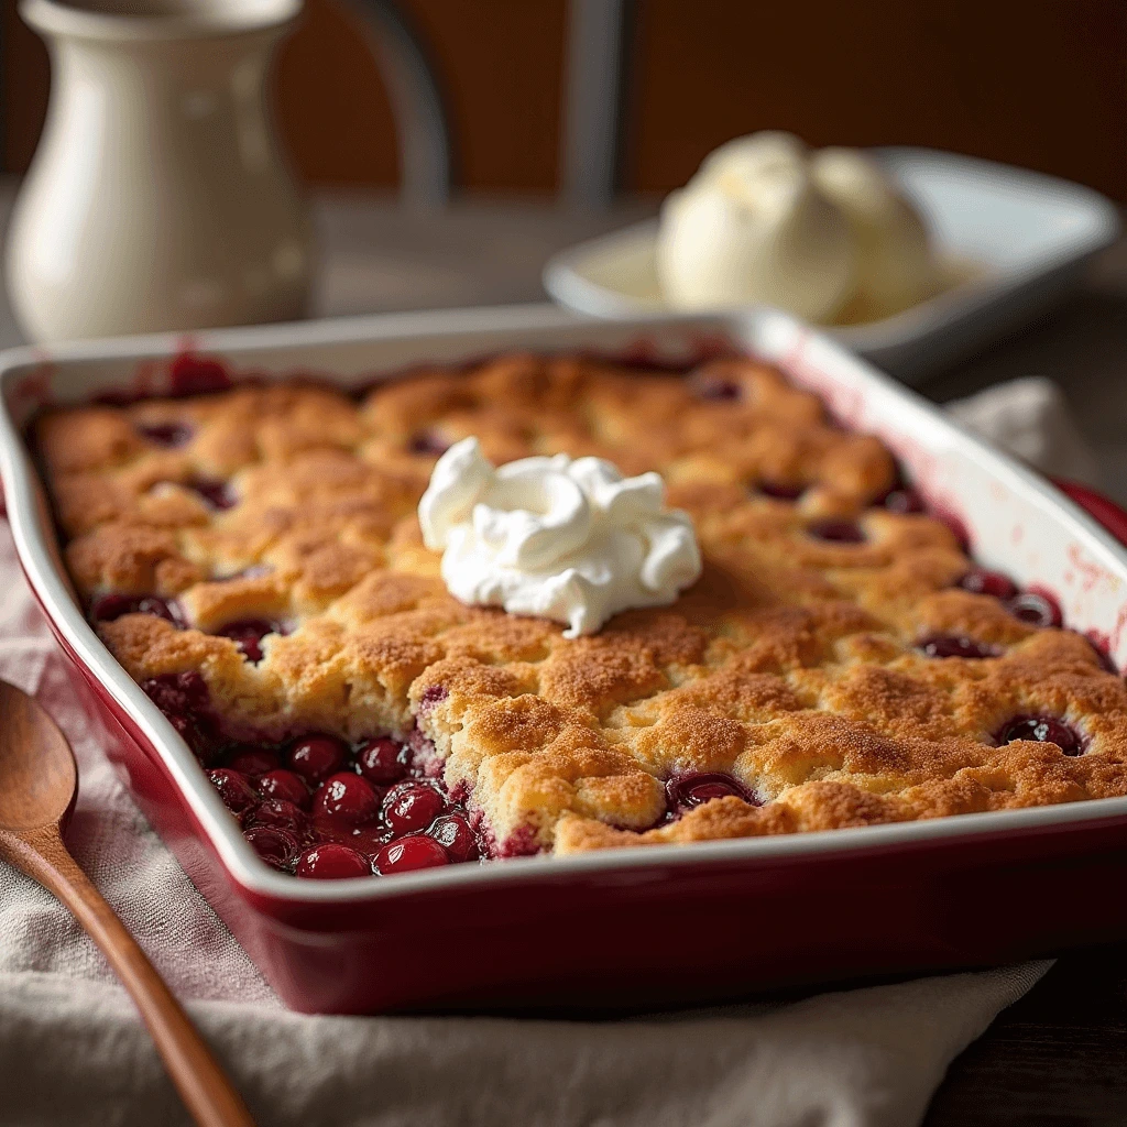
[[[28,579],[60,632],[159,749],[231,875],[260,895],[304,903],[352,902],[451,884],[567,879],[607,870],[622,879],[644,879],[644,870],[655,864],[699,864],[710,859],[770,863],[783,857],[1127,815],[1127,798],[1110,798],[691,846],[512,859],[393,879],[298,880],[275,872],[254,854],[187,745],[87,623],[56,564],[42,487],[20,436],[23,425],[44,402],[81,402],[110,388],[159,393],[169,361],[185,349],[222,357],[237,373],[285,379],[312,372],[347,384],[374,373],[393,378],[424,363],[456,364],[509,349],[593,350],[676,361],[726,346],[778,364],[796,383],[818,392],[844,423],[878,434],[929,499],[962,522],[979,562],[1004,569],[1022,585],[1051,591],[1068,625],[1106,637],[1117,664],[1127,665],[1127,549],[1038,474],[986,446],[840,345],[773,310],[728,318],[610,322],[576,320],[550,307],[518,307],[228,329],[193,338],[136,337],[66,345],[50,353],[14,349],[0,357],[0,470],[12,533]]]

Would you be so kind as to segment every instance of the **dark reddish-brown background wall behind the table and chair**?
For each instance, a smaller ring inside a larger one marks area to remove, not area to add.
[[[46,54],[3,0],[3,163],[27,167]],[[450,99],[467,188],[558,183],[566,0],[401,0]],[[1127,199],[1120,0],[636,0],[622,186],[683,183],[766,126],[813,143],[935,145]],[[308,0],[277,70],[296,162],[323,184],[391,185],[393,122],[347,0]]]

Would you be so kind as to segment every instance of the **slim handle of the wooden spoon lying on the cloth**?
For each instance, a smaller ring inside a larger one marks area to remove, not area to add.
[[[254,1127],[211,1049],[63,844],[57,826],[0,832],[0,858],[54,893],[73,912],[133,996],[180,1098],[201,1127]]]

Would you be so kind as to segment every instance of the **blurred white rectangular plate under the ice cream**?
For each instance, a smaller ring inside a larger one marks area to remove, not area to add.
[[[824,331],[908,383],[1032,318],[1119,237],[1118,208],[1079,184],[930,149],[871,153],[922,206],[941,260],[966,281],[895,317]],[[648,220],[564,250],[544,267],[544,289],[594,317],[668,313],[656,237]]]

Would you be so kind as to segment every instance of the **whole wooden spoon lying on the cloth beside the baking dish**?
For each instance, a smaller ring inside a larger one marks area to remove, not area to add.
[[[54,893],[101,948],[196,1122],[254,1127],[180,1003],[66,851],[62,827],[77,797],[78,765],[66,737],[27,693],[0,681],[0,859]]]

